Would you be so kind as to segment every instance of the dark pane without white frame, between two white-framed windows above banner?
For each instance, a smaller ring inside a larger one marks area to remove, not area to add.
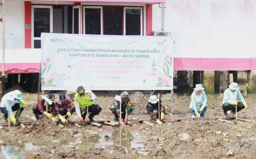
[[[104,7],[104,34],[123,35],[123,7]]]

